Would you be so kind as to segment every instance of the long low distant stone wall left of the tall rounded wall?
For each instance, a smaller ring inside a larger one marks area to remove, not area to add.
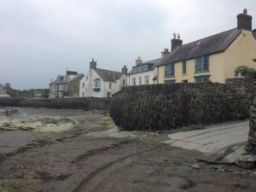
[[[53,98],[53,99],[12,99],[1,98],[0,107],[26,108],[76,108],[109,110],[109,98]]]

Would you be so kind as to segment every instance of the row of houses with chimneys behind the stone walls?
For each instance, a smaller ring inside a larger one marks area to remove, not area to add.
[[[111,97],[124,86],[141,84],[201,83],[207,80],[224,83],[234,76],[236,67],[255,67],[256,29],[252,30],[252,16],[247,9],[236,16],[237,26],[189,44],[173,34],[171,49],[164,49],[160,58],[136,64],[128,73],[96,67],[90,62],[87,73],[67,71],[49,84],[49,97]]]

